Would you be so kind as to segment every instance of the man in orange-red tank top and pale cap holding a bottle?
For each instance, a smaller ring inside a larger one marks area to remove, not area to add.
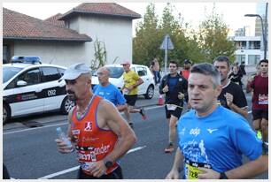
[[[86,64],[71,65],[60,80],[66,81],[67,95],[76,102],[67,134],[80,163],[78,178],[123,178],[119,160],[136,142],[135,133],[112,102],[93,95]],[[60,153],[73,151],[63,140],[56,142]]]

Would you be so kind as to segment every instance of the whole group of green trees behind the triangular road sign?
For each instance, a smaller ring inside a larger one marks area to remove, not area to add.
[[[219,55],[233,58],[235,47],[233,42],[228,41],[228,27],[221,16],[214,13],[214,8],[212,14],[200,24],[198,32],[184,22],[181,13],[175,17],[174,12],[174,5],[166,4],[159,19],[155,5],[147,6],[133,39],[133,60],[136,64],[149,65],[157,57],[160,65],[163,65],[165,52],[159,47],[166,34],[174,44],[174,49],[168,50],[168,60],[174,59],[180,65],[186,58],[193,63],[212,62]]]

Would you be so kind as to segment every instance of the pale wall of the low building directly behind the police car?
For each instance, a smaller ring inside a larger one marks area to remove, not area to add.
[[[14,55],[38,56],[46,64],[90,64],[86,59],[84,42],[14,42]]]

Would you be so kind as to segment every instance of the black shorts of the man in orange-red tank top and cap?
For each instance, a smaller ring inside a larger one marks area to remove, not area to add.
[[[103,175],[100,178],[89,176],[89,175],[85,174],[81,170],[81,168],[79,168],[77,178],[79,178],[79,179],[123,179],[123,176],[122,176],[121,168],[119,166],[116,170],[112,171],[111,173],[109,173],[107,175]]]

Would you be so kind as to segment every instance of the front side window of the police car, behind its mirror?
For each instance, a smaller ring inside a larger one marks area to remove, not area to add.
[[[27,82],[27,86],[35,85],[41,83],[41,73],[40,70],[33,69],[23,72],[19,75],[18,80],[23,80]]]

